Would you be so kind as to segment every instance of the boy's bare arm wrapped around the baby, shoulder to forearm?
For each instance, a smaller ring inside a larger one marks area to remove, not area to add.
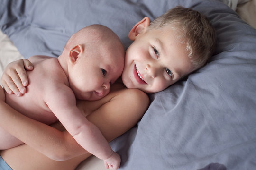
[[[84,101],[79,102],[80,106],[84,105]],[[91,105],[94,103],[101,103],[101,100],[90,102]],[[148,104],[147,95],[140,90],[119,90],[109,102],[91,110],[87,119],[97,125],[110,142],[133,127],[145,113]],[[1,100],[0,110],[2,128],[51,159],[64,161],[87,153],[67,131],[61,132],[30,119]]]

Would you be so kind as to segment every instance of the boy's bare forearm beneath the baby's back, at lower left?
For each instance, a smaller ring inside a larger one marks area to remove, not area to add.
[[[4,130],[53,160],[64,161],[87,153],[67,131],[28,118],[2,100],[0,110],[0,126]]]

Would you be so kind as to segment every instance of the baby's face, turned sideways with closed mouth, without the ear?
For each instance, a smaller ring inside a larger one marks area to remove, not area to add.
[[[120,48],[119,48],[120,47]],[[78,57],[69,75],[70,87],[77,99],[98,100],[110,92],[124,67],[122,45],[95,43],[85,45],[83,56]]]

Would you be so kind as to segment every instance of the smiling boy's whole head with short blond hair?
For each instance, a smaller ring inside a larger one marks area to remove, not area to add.
[[[151,23],[143,18],[129,38],[134,42],[126,51],[122,80],[128,88],[146,93],[162,91],[201,68],[216,43],[206,17],[183,7],[172,8]]]

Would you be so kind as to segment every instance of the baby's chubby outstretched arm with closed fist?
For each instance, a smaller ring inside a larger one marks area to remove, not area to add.
[[[78,144],[107,162],[111,168],[119,168],[119,155],[111,149],[98,127],[82,115],[76,106],[73,91],[68,86],[52,84],[52,88],[45,92],[44,98],[50,110]]]

